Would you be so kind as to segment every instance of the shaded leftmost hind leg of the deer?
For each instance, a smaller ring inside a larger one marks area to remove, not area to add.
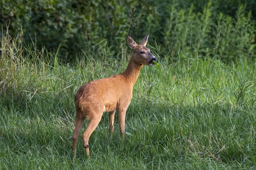
[[[73,155],[74,158],[76,158],[76,144],[78,141],[78,135],[81,130],[83,122],[84,122],[84,116],[82,115],[81,110],[76,109],[76,127],[75,127],[75,131],[73,134],[73,144],[71,147],[74,150],[74,155]]]

